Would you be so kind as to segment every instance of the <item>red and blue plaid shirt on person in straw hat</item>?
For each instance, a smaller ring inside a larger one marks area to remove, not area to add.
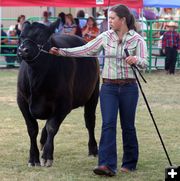
[[[164,33],[162,38],[162,48],[165,47],[176,47],[180,49],[180,34],[176,31],[167,31]]]

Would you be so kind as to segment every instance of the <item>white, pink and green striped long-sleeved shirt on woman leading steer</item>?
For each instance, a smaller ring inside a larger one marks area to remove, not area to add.
[[[102,77],[107,79],[135,78],[129,64],[126,63],[127,48],[129,54],[136,56],[137,66],[145,68],[147,66],[147,47],[144,39],[134,30],[124,34],[122,42],[115,31],[109,30],[86,45],[75,48],[60,48],[60,54],[64,56],[91,56],[97,55],[102,49],[105,50],[105,61]],[[109,57],[108,57],[109,56]]]

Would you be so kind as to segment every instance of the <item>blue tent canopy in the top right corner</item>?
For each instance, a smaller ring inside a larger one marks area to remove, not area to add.
[[[162,7],[162,8],[180,8],[180,0],[143,0],[143,6]]]

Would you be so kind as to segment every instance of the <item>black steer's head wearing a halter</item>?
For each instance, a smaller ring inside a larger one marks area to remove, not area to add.
[[[54,23],[48,27],[41,23],[23,24],[23,29],[19,39],[18,56],[27,63],[36,60],[41,49],[48,51],[48,39],[54,32]]]

